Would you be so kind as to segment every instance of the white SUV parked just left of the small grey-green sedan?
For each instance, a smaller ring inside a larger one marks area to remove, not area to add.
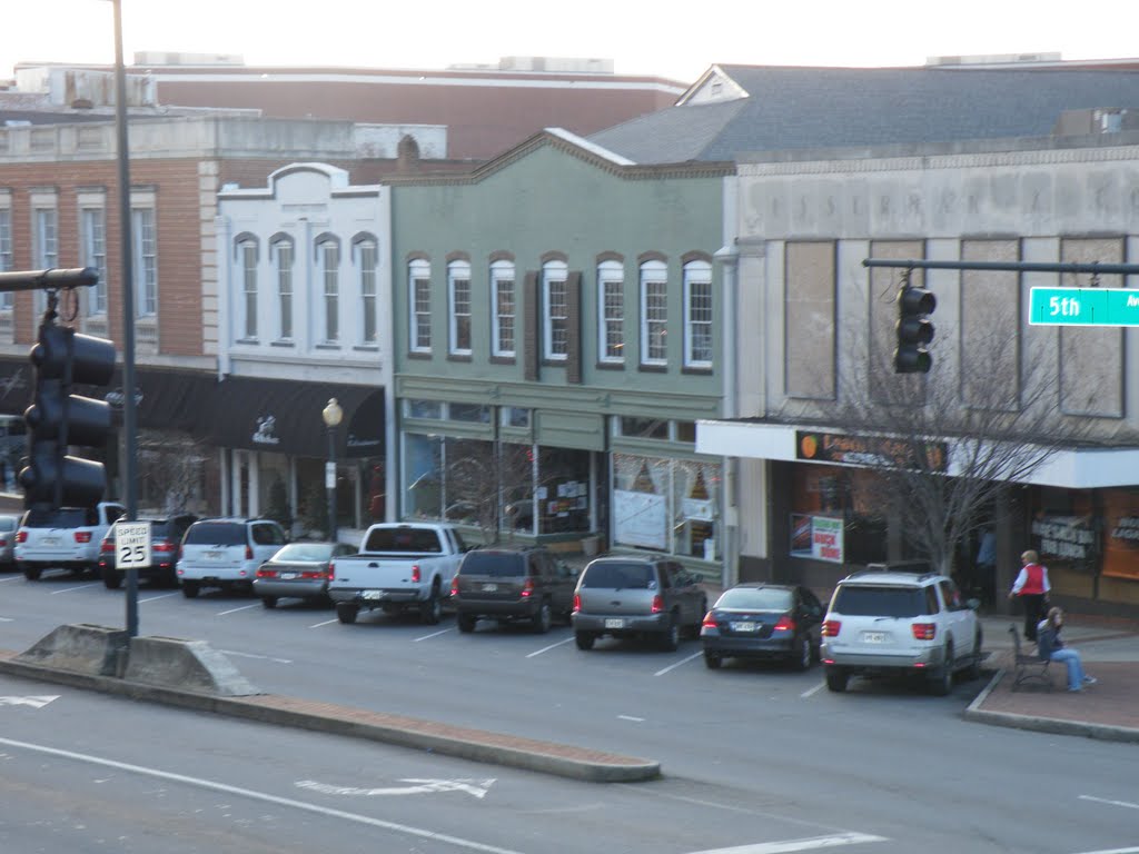
[[[178,553],[182,596],[194,599],[202,588],[253,592],[257,567],[287,542],[272,519],[198,519]]]

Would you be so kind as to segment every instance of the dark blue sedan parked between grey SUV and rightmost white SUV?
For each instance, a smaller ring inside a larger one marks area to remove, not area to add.
[[[805,671],[821,643],[823,607],[804,586],[745,583],[720,596],[704,617],[704,664],[724,658],[768,658]]]

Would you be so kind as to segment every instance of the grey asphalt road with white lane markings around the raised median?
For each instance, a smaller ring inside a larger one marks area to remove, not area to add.
[[[1139,748],[967,723],[980,681],[945,698],[887,682],[831,695],[819,668],[707,671],[693,641],[674,654],[612,641],[582,652],[564,626],[462,635],[451,618],[379,615],[344,626],[331,610],[146,588],[139,608],[142,634],[206,640],[265,691],[658,759],[664,778],[581,783],[9,680],[0,697],[59,699],[0,705],[0,803],[18,816],[0,823],[5,851],[154,851],[147,829],[171,827],[185,847],[231,839],[222,849],[1139,852]],[[122,591],[98,582],[0,575],[0,648],[26,649],[64,623],[121,626],[124,609]],[[95,783],[109,770],[121,793]],[[378,794],[490,778],[481,797]],[[138,847],[90,843],[130,834]]]

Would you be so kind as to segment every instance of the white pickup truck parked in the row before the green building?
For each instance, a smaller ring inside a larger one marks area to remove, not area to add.
[[[328,596],[336,603],[336,617],[355,623],[361,609],[398,614],[413,608],[424,623],[439,623],[451,578],[468,550],[453,525],[372,525],[358,555],[333,560]]]

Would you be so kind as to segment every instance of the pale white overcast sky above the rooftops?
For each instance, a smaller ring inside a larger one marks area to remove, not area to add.
[[[1139,56],[1121,0],[120,0],[123,51],[247,65],[445,68],[507,56],[611,59],[690,83],[714,64],[896,66],[928,57]],[[110,0],[0,0],[0,77],[21,61],[114,61]]]

